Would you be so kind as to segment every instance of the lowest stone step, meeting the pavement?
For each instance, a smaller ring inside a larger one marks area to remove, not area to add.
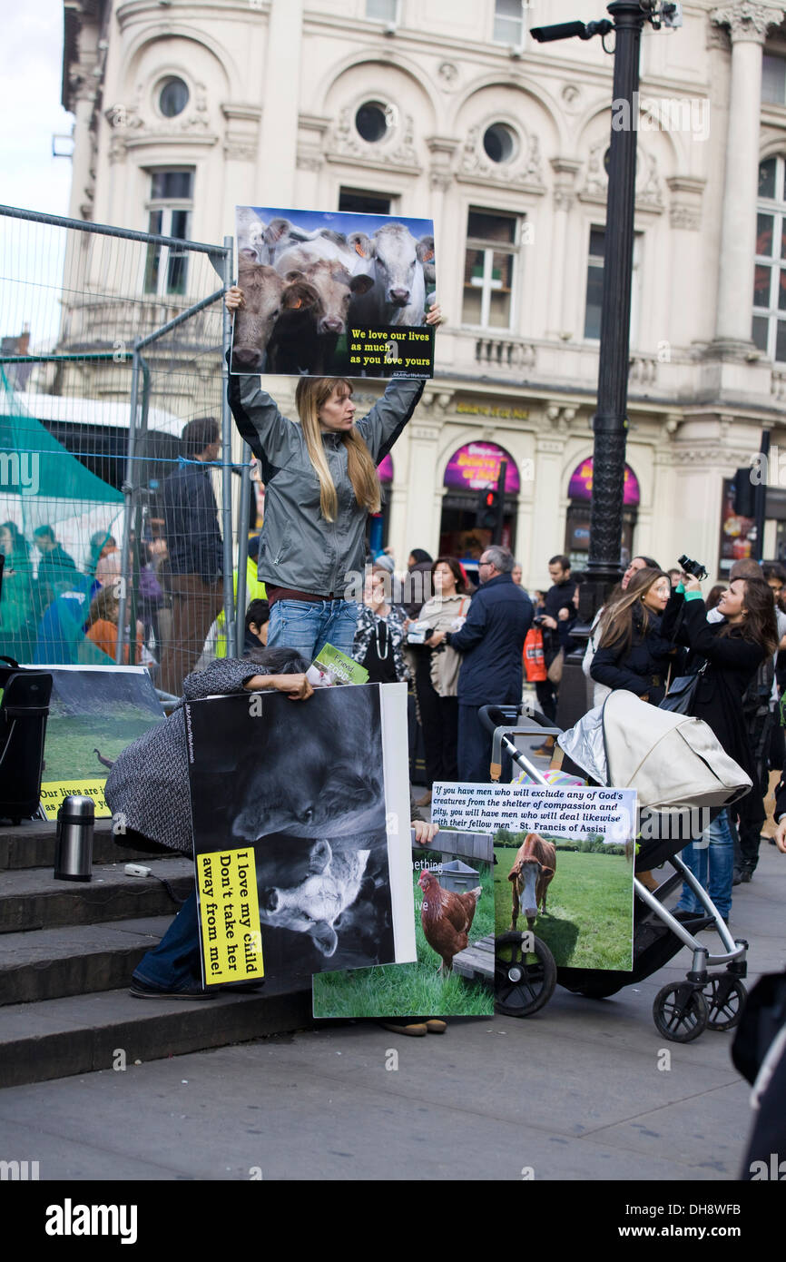
[[[310,991],[134,1000],[127,991],[0,1008],[0,1087],[226,1047],[313,1026]]]

